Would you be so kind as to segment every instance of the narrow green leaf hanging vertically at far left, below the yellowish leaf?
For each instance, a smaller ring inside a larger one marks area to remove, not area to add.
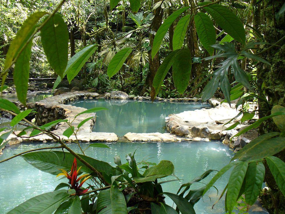
[[[30,72],[30,56],[31,56],[32,40],[27,44],[25,49],[20,53],[13,72],[13,79],[16,86],[17,97],[21,103],[26,105],[29,72]]]

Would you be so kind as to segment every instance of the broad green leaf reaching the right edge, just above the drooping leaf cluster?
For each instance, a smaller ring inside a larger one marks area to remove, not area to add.
[[[278,133],[278,132],[277,132]],[[278,133],[279,135],[279,133]],[[285,137],[276,137],[276,132],[259,136],[245,145],[232,160],[251,161],[272,156],[285,149]]]

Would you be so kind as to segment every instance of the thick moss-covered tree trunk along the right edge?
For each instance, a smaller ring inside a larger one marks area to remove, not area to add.
[[[285,35],[285,23],[280,20],[279,23],[274,23],[275,15],[282,7],[284,0],[263,0],[264,5],[261,9],[261,15],[265,16],[263,21],[265,26],[260,29],[263,31],[265,41],[274,44],[278,41],[278,35]],[[257,13],[258,14],[258,13]],[[258,19],[257,19],[258,20]],[[255,19],[254,19],[254,22]],[[264,93],[268,97],[268,104],[259,100],[258,108],[262,116],[270,114],[270,110],[274,105],[285,106],[285,41],[279,43],[280,47],[273,47],[261,55],[262,58],[270,62],[271,65],[260,63],[257,68],[258,83],[264,83]],[[263,49],[269,47],[264,46]],[[261,85],[259,85],[261,88]],[[259,115],[260,117],[261,115]],[[259,129],[260,134],[267,132],[280,132],[272,120],[265,123],[265,126]],[[276,154],[278,158],[285,161],[285,151]],[[265,179],[267,186],[270,188],[268,191],[260,195],[263,206],[269,213],[285,213],[285,198],[280,189],[276,185],[274,177],[266,166]]]

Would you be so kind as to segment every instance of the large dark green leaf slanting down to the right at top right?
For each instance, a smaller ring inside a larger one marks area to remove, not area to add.
[[[245,44],[245,29],[240,19],[229,9],[219,4],[212,4],[204,9],[216,23],[235,40]]]

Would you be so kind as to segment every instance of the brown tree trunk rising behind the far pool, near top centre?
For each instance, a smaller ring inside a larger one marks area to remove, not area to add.
[[[159,0],[154,0],[154,3],[157,3]],[[160,11],[160,7],[154,10],[154,18],[152,20],[152,31],[157,32],[158,28],[160,27],[162,23],[162,16],[163,14]],[[143,90],[141,91],[141,96],[144,94],[145,90],[149,87],[152,86],[152,81],[154,79],[154,76],[156,74],[156,71],[159,68],[160,65],[160,59],[159,59],[159,52],[154,56],[153,60],[151,58],[151,50],[152,50],[152,45],[153,45],[153,39],[154,35],[150,34],[149,38],[149,45],[151,49],[148,51],[148,62],[149,62],[149,72],[146,76],[146,81],[144,83]]]

